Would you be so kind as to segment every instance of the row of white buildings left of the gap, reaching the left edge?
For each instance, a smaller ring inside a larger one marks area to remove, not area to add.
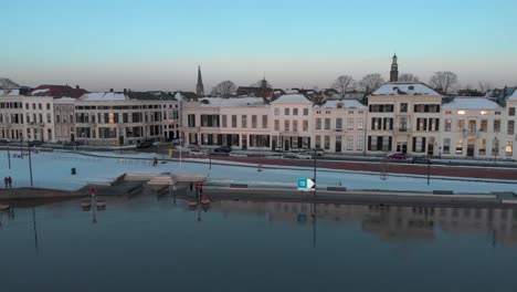
[[[179,137],[179,103],[165,93],[86,93],[78,98],[0,96],[0,138],[135,145]]]

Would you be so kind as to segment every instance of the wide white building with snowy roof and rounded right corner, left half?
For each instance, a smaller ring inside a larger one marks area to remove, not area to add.
[[[114,146],[170,138],[179,128],[178,111],[167,94],[86,93],[74,103],[75,140]]]

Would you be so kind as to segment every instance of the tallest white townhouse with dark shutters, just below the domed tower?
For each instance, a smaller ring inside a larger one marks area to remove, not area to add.
[[[367,153],[439,155],[441,104],[423,83],[383,84],[368,97]]]

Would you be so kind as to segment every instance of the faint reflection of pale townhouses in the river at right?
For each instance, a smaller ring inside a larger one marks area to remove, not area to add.
[[[217,201],[211,207],[224,213],[268,216],[271,221],[300,222],[309,216],[310,202]],[[517,246],[517,209],[434,208],[318,204],[317,218],[361,221],[363,230],[387,240],[430,240],[435,228],[452,232],[488,231],[494,243]],[[305,217],[303,217],[305,218]]]

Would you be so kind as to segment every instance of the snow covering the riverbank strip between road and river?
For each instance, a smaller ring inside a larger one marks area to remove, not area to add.
[[[14,152],[11,152],[11,156]],[[15,153],[19,154],[18,152]],[[257,171],[256,165],[232,164],[212,161],[209,169],[209,158],[183,159],[180,161],[159,163],[152,166],[151,158],[161,155],[139,153],[123,154],[120,158],[117,153],[88,153],[109,157],[92,157],[72,153],[40,153],[31,155],[34,187],[54,188],[63,190],[76,190],[87,182],[108,182],[125,173],[149,173],[149,174],[204,174],[211,181],[247,182],[251,186],[265,185],[275,181],[274,185],[296,186],[298,178],[313,178],[312,167],[278,167],[264,166]],[[140,159],[130,159],[140,158]],[[149,159],[141,159],[149,158]],[[160,160],[161,161],[161,160]],[[200,163],[202,161],[202,163]],[[0,154],[0,178],[11,176],[13,187],[30,186],[29,157],[11,157],[11,169],[8,169],[7,152]],[[77,175],[72,175],[71,169],[75,167]],[[517,185],[505,182],[482,182],[467,180],[450,180],[431,177],[428,186],[426,177],[403,177],[388,174],[382,180],[378,173],[351,173],[336,169],[317,169],[318,187],[344,186],[348,189],[386,189],[386,190],[453,190],[455,192],[490,192],[490,191],[515,191]]]

